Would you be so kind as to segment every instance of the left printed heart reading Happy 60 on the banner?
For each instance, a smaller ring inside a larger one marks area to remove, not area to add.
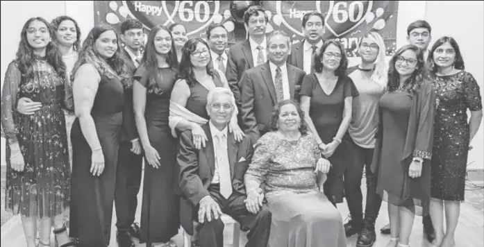
[[[227,10],[230,1],[123,1],[123,5],[128,15],[149,30],[158,24],[180,23],[187,28],[187,35],[194,35],[205,31],[214,14]]]

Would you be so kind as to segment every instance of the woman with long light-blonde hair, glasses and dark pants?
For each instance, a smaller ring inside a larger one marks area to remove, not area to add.
[[[353,167],[344,176],[347,186],[346,198],[351,220],[346,223],[347,236],[358,233],[357,246],[371,246],[376,240],[375,221],[380,211],[381,197],[376,193],[376,174],[373,174],[373,151],[378,127],[378,101],[387,86],[386,46],[381,35],[369,32],[358,44],[361,63],[348,69],[348,76],[358,90],[353,98],[351,123],[348,128],[349,163]],[[351,71],[350,71],[351,70]],[[366,167],[366,168],[365,168]],[[367,196],[365,219],[363,219],[361,178],[365,168]]]

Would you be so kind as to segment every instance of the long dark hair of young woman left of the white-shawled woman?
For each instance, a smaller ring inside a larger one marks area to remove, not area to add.
[[[170,33],[168,28],[165,26],[153,26],[149,32],[147,46],[146,49],[144,49],[143,58],[141,60],[141,62],[147,67],[147,73],[149,74],[148,87],[150,89],[159,89],[160,85],[163,83],[163,76],[158,69],[158,60],[156,59],[158,53],[156,52],[155,48],[155,36],[160,30],[167,31],[170,39],[172,40],[172,49],[170,49],[170,51],[167,53],[165,60],[171,69],[174,71],[178,70],[178,59],[176,58],[175,41],[173,40],[172,33]]]

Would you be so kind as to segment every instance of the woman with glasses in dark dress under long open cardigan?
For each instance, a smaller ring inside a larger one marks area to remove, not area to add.
[[[428,214],[435,92],[426,80],[422,51],[401,47],[390,60],[387,92],[379,102],[372,160],[376,190],[388,203],[388,247],[409,244],[415,214]]]

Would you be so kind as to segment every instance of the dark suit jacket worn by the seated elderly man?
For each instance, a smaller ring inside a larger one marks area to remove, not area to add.
[[[192,131],[186,130],[180,135],[178,145],[178,181],[181,189],[180,221],[185,231],[193,235],[193,219],[195,208],[205,196],[210,196],[210,186],[215,172],[215,153],[212,134],[208,123],[201,126],[208,142],[206,147],[198,150],[192,142]],[[251,139],[244,137],[242,142],[235,142],[232,133],[227,133],[228,163],[231,168],[232,188],[245,194],[244,175],[252,160],[253,149]],[[244,157],[244,159],[242,159]]]

